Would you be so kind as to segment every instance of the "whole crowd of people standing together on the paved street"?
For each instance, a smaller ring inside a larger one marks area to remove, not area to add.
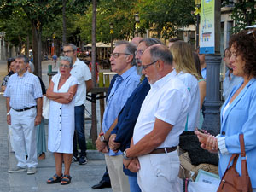
[[[218,153],[220,177],[230,156],[241,153],[239,135],[243,133],[249,177],[256,191],[253,49],[256,30],[242,31],[230,38],[229,48],[224,51],[228,70],[224,77],[220,134],[212,136],[197,129],[202,127],[207,84],[207,63],[199,49],[194,53],[180,39],[172,39],[168,47],[156,38],[116,42],[110,63],[117,74],[108,88],[102,130],[96,140],[107,167],[102,181],[92,188],[111,186],[113,192],[177,191],[179,136],[183,131],[195,131],[201,148]],[[25,55],[9,60],[9,74],[2,89],[9,135],[18,160],[9,172],[34,174],[38,157],[45,155],[44,144],[35,147],[39,139],[33,129],[42,122],[44,126],[41,116],[45,93],[50,100],[48,149],[55,156],[55,174],[47,183],[69,184],[72,161],[86,164],[84,102],[92,82],[90,69],[79,61],[76,51],[73,44],[64,45],[59,73],[51,79],[46,92],[44,84],[40,84],[42,80],[29,73]],[[236,170],[241,174],[241,158]]]

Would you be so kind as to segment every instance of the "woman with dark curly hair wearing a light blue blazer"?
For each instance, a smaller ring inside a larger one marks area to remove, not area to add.
[[[230,64],[233,74],[243,78],[230,93],[221,110],[221,130],[217,137],[195,131],[201,147],[219,154],[220,177],[232,154],[241,154],[239,135],[243,134],[247,170],[256,191],[256,30],[242,31],[230,38]],[[236,163],[241,175],[241,155]]]

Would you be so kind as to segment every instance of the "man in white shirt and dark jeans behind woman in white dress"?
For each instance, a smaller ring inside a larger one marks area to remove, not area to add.
[[[86,142],[84,135],[84,105],[86,92],[92,88],[91,73],[89,67],[77,57],[77,47],[74,44],[65,44],[63,54],[73,60],[71,74],[78,79],[78,90],[75,97],[75,134],[73,137],[73,161],[79,161],[79,165],[87,163]],[[77,149],[77,140],[81,152]]]

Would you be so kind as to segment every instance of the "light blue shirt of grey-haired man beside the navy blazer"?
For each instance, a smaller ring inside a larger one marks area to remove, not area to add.
[[[116,78],[113,88],[108,96],[107,105],[103,115],[102,130],[104,133],[108,131],[113,121],[118,117],[119,112],[124,107],[125,102],[131,96],[131,93],[140,83],[140,76],[137,75],[136,67],[133,66],[125,73]],[[114,154],[109,150],[108,155],[122,154],[120,151]]]

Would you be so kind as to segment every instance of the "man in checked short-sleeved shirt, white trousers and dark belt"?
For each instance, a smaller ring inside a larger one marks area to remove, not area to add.
[[[15,59],[16,73],[9,78],[6,97],[7,123],[11,125],[14,137],[15,157],[18,161],[9,173],[37,172],[38,154],[35,126],[42,119],[42,89],[37,76],[27,72],[26,55]],[[27,151],[27,159],[26,159]]]

